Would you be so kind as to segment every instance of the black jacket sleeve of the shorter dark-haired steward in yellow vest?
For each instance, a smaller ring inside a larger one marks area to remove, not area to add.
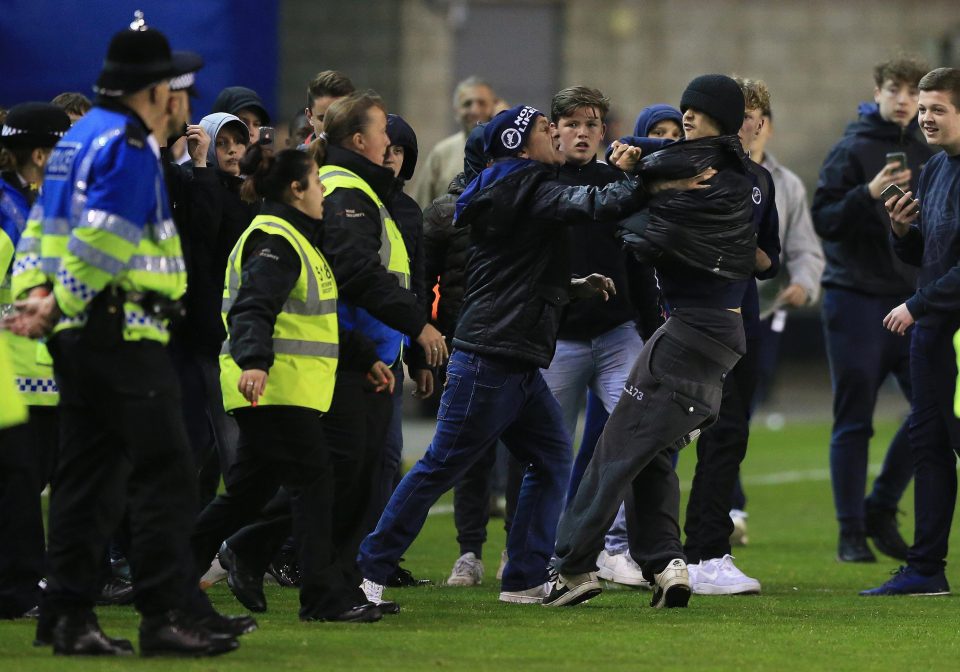
[[[241,369],[268,371],[273,366],[273,328],[301,265],[282,236],[255,232],[247,238],[240,290],[227,313],[230,355]]]

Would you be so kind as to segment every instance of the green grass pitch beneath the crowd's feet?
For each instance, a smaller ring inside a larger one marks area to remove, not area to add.
[[[894,430],[878,427],[871,462]],[[905,670],[956,669],[960,663],[953,598],[861,598],[897,565],[840,565],[830,485],[823,479],[829,429],[757,429],[744,465],[750,545],[737,563],[763,583],[759,597],[698,597],[688,609],[653,610],[649,593],[609,590],[576,608],[544,609],[497,601],[493,580],[503,547],[500,521],[485,551],[490,580],[479,588],[388,591],[403,613],[372,625],[301,624],[295,591],[267,587],[270,611],[240,650],[199,661],[63,660],[30,646],[29,622],[0,624],[0,670]],[[689,483],[693,454],[680,471]],[[770,474],[794,472],[788,482]],[[795,480],[805,478],[807,480]],[[912,495],[904,498],[912,536]],[[431,516],[405,565],[442,582],[457,557],[451,515]],[[953,577],[960,581],[960,577]],[[222,584],[216,605],[237,613]],[[135,640],[131,608],[99,610],[104,629]]]

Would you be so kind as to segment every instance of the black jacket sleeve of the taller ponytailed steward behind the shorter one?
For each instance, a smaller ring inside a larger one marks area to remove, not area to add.
[[[427,323],[417,297],[380,264],[380,215],[357,189],[334,190],[324,203],[321,249],[340,296],[411,338]]]

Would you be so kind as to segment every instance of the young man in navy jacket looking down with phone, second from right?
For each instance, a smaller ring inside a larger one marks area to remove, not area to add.
[[[892,373],[908,400],[911,392],[909,342],[885,331],[881,321],[913,293],[917,272],[890,247],[880,194],[890,184],[915,190],[916,176],[932,155],[916,121],[917,83],[926,72],[925,64],[911,59],[874,69],[876,102],[860,105],[860,118],[824,160],[813,196],[813,225],[827,258],[823,329],[833,384],[830,473],[841,562],[875,562],[868,536],[881,552],[907,557],[896,522],[897,505],[913,476],[905,423],[866,501],[863,493],[877,390]],[[891,153],[905,154],[906,163]]]

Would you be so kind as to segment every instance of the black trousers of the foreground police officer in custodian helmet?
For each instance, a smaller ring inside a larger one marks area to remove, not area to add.
[[[125,507],[137,609],[185,606],[196,590],[188,544],[196,478],[166,350],[153,341],[99,349],[74,329],[54,336],[50,352],[60,457],[44,615],[92,609],[107,541]]]

